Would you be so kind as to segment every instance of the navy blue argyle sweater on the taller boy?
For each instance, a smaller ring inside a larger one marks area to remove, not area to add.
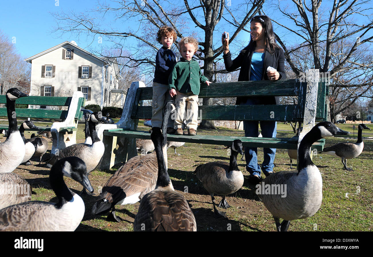
[[[162,46],[156,56],[156,70],[154,71],[154,82],[168,85],[168,77],[176,64],[175,53],[171,49]]]

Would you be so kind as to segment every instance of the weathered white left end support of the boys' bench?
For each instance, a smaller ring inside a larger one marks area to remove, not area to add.
[[[145,87],[142,81],[134,81],[128,89],[126,100],[123,106],[122,117],[116,124],[100,124],[96,127],[98,137],[103,140],[105,152],[99,166],[100,170],[109,170],[119,162],[126,162],[137,156],[136,139],[127,137],[104,136],[107,129],[129,128],[137,129],[138,120],[132,120],[132,108],[135,102],[136,91],[139,87]],[[118,148],[116,149],[116,146]]]

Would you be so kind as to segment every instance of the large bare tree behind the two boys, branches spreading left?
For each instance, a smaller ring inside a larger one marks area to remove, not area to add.
[[[91,12],[84,14],[76,13],[55,13],[58,27],[54,31],[73,33],[75,35],[105,37],[112,41],[117,49],[123,49],[119,57],[134,61],[133,64],[142,68],[143,73],[154,72],[156,52],[160,44],[156,41],[157,30],[164,26],[175,28],[179,38],[184,36],[196,36],[199,40],[197,59],[203,62],[204,75],[212,80],[215,73],[224,70],[214,70],[214,60],[222,54],[220,43],[220,32],[218,33],[216,47],[213,44],[214,30],[223,18],[226,22],[234,24],[235,30],[231,32],[229,43],[234,41],[239,32],[250,22],[250,19],[258,12],[264,0],[247,0],[242,4],[237,4],[235,9],[231,9],[231,1],[226,4],[225,0],[200,0],[194,4],[184,0],[184,4],[179,2],[158,0],[132,0],[132,1],[112,1],[99,3]],[[223,16],[224,10],[227,10]],[[103,24],[102,19],[107,16],[115,16],[112,24]],[[112,29],[114,22],[138,22],[137,30],[126,28],[124,31]],[[197,31],[189,27],[195,26]],[[133,43],[135,42],[135,43]],[[176,40],[176,43],[178,41]],[[178,52],[173,46],[174,52]],[[130,53],[130,54],[129,54]],[[210,99],[203,99],[203,104],[210,105]],[[200,128],[215,129],[213,122],[202,121]]]

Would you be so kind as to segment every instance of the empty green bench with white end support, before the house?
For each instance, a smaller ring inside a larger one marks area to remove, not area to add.
[[[5,95],[0,96],[0,103],[6,103]],[[57,96],[28,96],[16,100],[16,104],[25,105],[43,105],[43,106],[68,106],[68,110],[53,110],[53,109],[31,109],[31,108],[16,108],[18,121],[23,121],[25,118],[43,118],[43,119],[60,119],[62,122],[54,122],[51,127],[39,127],[43,131],[51,131],[53,137],[52,153],[56,149],[63,149],[66,146],[76,143],[76,131],[78,120],[83,117],[83,112],[80,110],[84,106],[85,98],[82,92],[74,92],[72,97],[57,97]],[[0,116],[7,117],[7,109],[0,108]],[[8,129],[8,124],[0,124],[0,129]],[[37,129],[28,129],[37,130]]]

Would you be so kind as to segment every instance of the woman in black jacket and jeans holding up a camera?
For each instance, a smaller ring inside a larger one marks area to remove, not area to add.
[[[285,79],[285,55],[275,42],[270,19],[264,15],[255,16],[251,19],[250,30],[250,43],[241,50],[233,61],[231,52],[229,52],[229,34],[225,39],[222,37],[226,70],[233,71],[241,67],[238,81]],[[269,66],[277,71],[267,72]],[[236,105],[274,105],[278,103],[278,97],[274,96],[237,97]],[[276,127],[276,121],[260,121],[263,137],[276,137]],[[244,121],[244,129],[246,137],[257,137],[258,121]],[[264,160],[261,170],[264,175],[269,176],[273,173],[276,148],[264,148],[263,151]],[[257,148],[245,147],[245,159],[246,170],[250,172],[249,181],[253,184],[259,183],[261,171],[257,160]]]

